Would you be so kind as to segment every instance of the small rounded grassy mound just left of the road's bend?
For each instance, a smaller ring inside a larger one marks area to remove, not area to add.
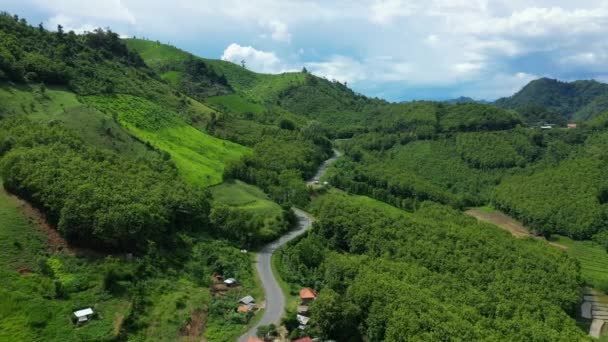
[[[210,188],[215,203],[250,212],[259,227],[262,241],[277,237],[287,228],[283,209],[258,187],[241,181],[229,181]]]

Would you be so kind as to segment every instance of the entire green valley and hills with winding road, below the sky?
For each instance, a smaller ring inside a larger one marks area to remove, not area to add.
[[[8,13],[0,58],[0,340],[606,339],[604,83],[396,103]]]

